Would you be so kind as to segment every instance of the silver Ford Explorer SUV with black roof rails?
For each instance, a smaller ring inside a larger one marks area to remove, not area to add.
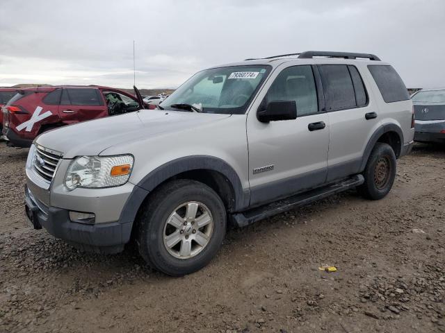
[[[307,51],[200,71],[157,110],[40,135],[26,212],[76,247],[140,255],[169,275],[248,225],[357,187],[380,199],[414,136],[412,101],[371,54]]]

